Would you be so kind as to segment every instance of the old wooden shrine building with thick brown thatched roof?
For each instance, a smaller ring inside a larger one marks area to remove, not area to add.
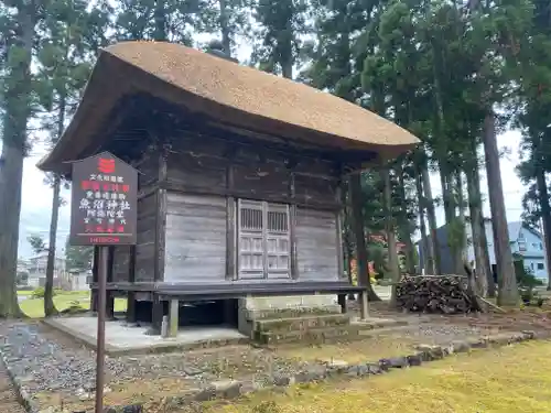
[[[139,170],[138,244],[110,247],[107,284],[128,296],[130,320],[159,330],[163,315],[180,308],[183,323],[190,303],[212,302],[222,306],[208,314],[250,333],[258,312],[339,311],[335,296],[358,291],[344,273],[341,185],[417,142],[309,86],[123,42],[101,52],[39,167],[71,180],[72,161],[109,151]]]

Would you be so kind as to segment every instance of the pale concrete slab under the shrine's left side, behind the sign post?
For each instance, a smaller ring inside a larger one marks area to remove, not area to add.
[[[94,316],[60,317],[44,320],[91,349],[97,345],[97,318]],[[194,348],[218,347],[248,343],[249,338],[230,327],[185,327],[177,336],[150,336],[149,326],[129,326],[122,320],[106,322],[106,352],[110,356],[165,352]]]

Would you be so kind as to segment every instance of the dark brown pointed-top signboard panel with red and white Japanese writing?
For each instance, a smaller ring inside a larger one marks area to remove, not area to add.
[[[109,152],[73,163],[72,246],[136,244],[138,171]]]

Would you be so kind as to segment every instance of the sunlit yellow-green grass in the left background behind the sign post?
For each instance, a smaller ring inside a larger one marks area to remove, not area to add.
[[[26,291],[24,292],[26,293]],[[32,293],[32,292],[31,292]],[[28,295],[19,294],[18,295]],[[64,291],[57,292],[54,296],[54,304],[57,311],[63,311],[72,305],[78,305],[88,309],[90,307],[90,293],[89,291]],[[31,318],[44,317],[44,298],[29,297],[20,304],[21,311]],[[115,311],[123,312],[127,309],[126,298],[115,298]]]

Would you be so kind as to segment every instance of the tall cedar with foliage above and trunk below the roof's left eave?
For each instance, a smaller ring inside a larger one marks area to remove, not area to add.
[[[102,25],[105,31],[107,24],[108,14],[96,8],[89,9],[88,1],[57,0],[48,4],[46,17],[39,26],[41,36],[35,85],[44,110],[41,116],[43,130],[48,133],[51,145],[55,145],[66,120],[76,108],[91,70],[91,59],[98,52],[97,46],[104,45],[105,40],[94,39],[100,29],[98,25]],[[46,183],[53,189],[44,292],[44,314],[48,317],[56,313],[53,302],[54,263],[64,183],[58,174],[48,174]]]

